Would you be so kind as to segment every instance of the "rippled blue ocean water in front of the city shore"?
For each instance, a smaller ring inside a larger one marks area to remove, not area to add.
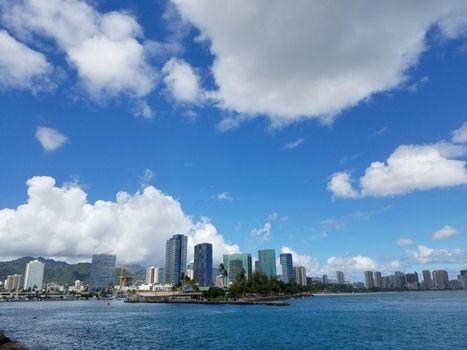
[[[1,303],[0,330],[33,349],[467,349],[467,291],[291,304]]]

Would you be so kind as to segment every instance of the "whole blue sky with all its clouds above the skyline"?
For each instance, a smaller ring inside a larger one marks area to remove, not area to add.
[[[0,0],[0,259],[467,268],[465,1]]]

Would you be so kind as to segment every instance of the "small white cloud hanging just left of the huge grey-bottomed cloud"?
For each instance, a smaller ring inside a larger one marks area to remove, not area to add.
[[[198,75],[185,61],[171,58],[162,68],[164,83],[177,102],[196,103],[202,99]]]

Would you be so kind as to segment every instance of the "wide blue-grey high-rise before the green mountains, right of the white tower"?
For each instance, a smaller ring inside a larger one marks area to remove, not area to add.
[[[91,289],[111,289],[115,286],[116,255],[94,254],[91,263]]]

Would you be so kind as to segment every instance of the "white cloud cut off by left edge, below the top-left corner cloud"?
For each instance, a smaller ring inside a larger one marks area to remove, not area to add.
[[[38,91],[53,87],[45,56],[0,30],[0,87]]]

